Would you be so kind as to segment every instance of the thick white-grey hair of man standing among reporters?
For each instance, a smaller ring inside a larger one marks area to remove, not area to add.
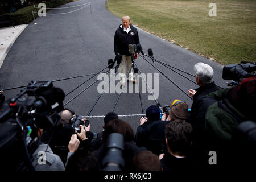
[[[196,77],[200,79],[202,84],[209,84],[213,82],[213,69],[210,65],[205,63],[196,63],[194,65]]]

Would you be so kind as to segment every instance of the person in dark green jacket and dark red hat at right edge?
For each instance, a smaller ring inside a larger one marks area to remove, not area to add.
[[[217,90],[200,98],[201,107],[205,111],[205,127],[201,136],[197,135],[193,139],[197,154],[203,149],[203,155],[206,156],[214,150],[218,154],[219,167],[238,166],[234,159],[241,158],[241,154],[237,154],[237,144],[233,143],[232,136],[241,122],[255,122],[255,83],[256,76],[245,78],[237,86]],[[204,162],[208,164],[208,161]]]

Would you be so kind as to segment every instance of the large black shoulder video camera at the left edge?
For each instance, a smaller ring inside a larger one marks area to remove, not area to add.
[[[57,113],[63,110],[64,97],[63,90],[53,87],[52,82],[32,81],[16,97],[3,103],[0,107],[1,169],[34,169],[31,156],[39,146],[38,133],[59,121]]]

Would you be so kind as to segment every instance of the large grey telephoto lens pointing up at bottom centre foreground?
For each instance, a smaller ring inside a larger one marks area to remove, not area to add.
[[[125,166],[123,150],[125,148],[123,135],[112,133],[106,140],[106,155],[102,160],[104,171],[121,171]]]

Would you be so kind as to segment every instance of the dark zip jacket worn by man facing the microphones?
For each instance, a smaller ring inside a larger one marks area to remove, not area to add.
[[[139,44],[139,35],[138,31],[132,24],[130,24],[131,30],[127,33],[123,30],[123,24],[120,24],[117,30],[115,31],[114,36],[114,51],[121,55],[130,56],[129,53],[129,44]]]

